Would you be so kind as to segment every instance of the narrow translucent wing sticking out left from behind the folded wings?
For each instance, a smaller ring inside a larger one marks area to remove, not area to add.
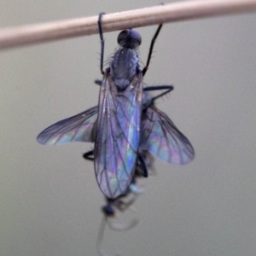
[[[49,126],[38,135],[38,143],[62,144],[71,142],[94,142],[98,107],[90,108],[68,119]]]

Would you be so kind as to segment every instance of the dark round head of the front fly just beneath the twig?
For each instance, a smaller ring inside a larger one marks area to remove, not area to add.
[[[117,41],[121,47],[137,49],[142,43],[142,37],[134,29],[125,29],[119,33]]]

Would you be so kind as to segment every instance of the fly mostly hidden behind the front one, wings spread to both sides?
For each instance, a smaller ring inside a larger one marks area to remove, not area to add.
[[[96,80],[96,84],[101,84]],[[143,89],[142,140],[138,159],[140,166],[144,163],[143,150],[172,164],[183,165],[193,160],[195,152],[187,137],[177,130],[166,113],[154,106],[156,99],[166,95],[173,89],[172,85],[150,86]],[[151,96],[148,90],[166,90],[158,96]],[[63,119],[49,126],[38,135],[41,144],[62,144],[69,142],[94,142],[97,107],[90,108],[68,119]],[[94,160],[94,150],[84,154],[87,160]],[[147,168],[141,167],[147,177]],[[145,171],[146,170],[146,171]],[[141,172],[142,173],[142,172]]]

